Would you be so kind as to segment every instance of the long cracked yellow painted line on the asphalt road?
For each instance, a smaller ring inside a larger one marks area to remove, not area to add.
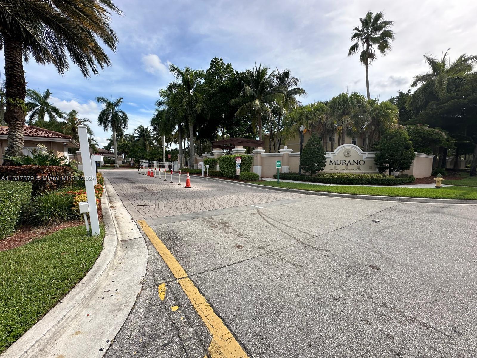
[[[174,277],[187,295],[190,303],[194,306],[197,314],[204,322],[212,341],[208,347],[210,358],[247,358],[247,353],[240,346],[232,333],[228,330],[222,319],[214,312],[206,298],[201,295],[196,285],[187,277],[186,271],[177,262],[173,254],[167,249],[166,245],[157,237],[145,220],[138,221],[145,234],[152,242],[157,252],[161,255]]]

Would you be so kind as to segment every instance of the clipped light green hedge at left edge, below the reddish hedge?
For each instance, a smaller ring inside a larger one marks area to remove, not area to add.
[[[23,206],[30,201],[31,190],[31,183],[0,181],[0,239],[15,229]]]

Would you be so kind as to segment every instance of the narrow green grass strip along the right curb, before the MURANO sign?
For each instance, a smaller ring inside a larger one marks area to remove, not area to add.
[[[462,181],[462,180],[456,180]],[[474,199],[477,200],[477,189],[467,187],[435,188],[389,188],[389,187],[360,187],[360,186],[326,186],[315,184],[289,183],[276,181],[253,181],[253,184],[268,187],[280,187],[300,190],[322,191],[341,194],[379,195],[402,198],[434,198],[434,199]]]

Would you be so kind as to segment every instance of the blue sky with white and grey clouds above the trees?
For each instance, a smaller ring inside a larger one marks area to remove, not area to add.
[[[475,0],[114,3],[124,11],[124,17],[112,20],[120,42],[117,52],[110,54],[112,66],[100,75],[85,79],[73,66],[64,76],[52,66],[25,66],[28,87],[50,88],[62,110],[75,109],[90,118],[100,146],[111,134],[96,124],[100,106],[95,96],[124,97],[129,131],[146,126],[159,88],[171,80],[168,63],[205,70],[217,56],[236,70],[254,63],[289,68],[308,92],[303,103],[329,99],[346,89],[365,94],[364,67],[347,53],[353,27],[369,10],[384,11],[386,19],[394,21],[396,36],[391,53],[370,68],[372,97],[384,100],[407,89],[415,74],[426,71],[425,53],[440,56],[451,48],[451,59],[477,54]]]

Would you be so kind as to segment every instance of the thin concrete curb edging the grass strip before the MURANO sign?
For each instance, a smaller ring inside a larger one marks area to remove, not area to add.
[[[329,193],[329,192],[325,192],[325,191],[312,191],[312,190],[299,190],[299,189],[289,189],[289,188],[268,187],[266,185],[244,183],[244,182],[234,181],[234,180],[226,180],[226,179],[211,178],[211,177],[202,177],[202,176],[195,175],[195,174],[193,175],[193,177],[199,177],[199,178],[204,178],[204,179],[209,179],[209,180],[227,181],[229,183],[233,183],[233,184],[237,184],[237,185],[253,186],[253,187],[259,187],[259,188],[268,189],[268,190],[288,191],[288,192],[295,192],[295,193],[306,194],[306,195],[318,195],[318,196],[327,196],[327,197],[333,197],[333,198],[418,202],[418,203],[434,203],[434,204],[477,205],[477,200],[470,200],[470,199],[469,200],[464,200],[464,199],[401,198],[401,197],[394,197],[394,196],[379,196],[379,195],[340,194],[340,193]]]

